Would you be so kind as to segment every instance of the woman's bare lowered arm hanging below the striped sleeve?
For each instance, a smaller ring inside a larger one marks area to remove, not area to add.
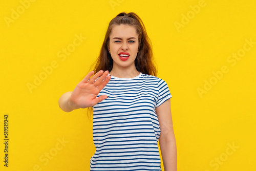
[[[170,112],[170,99],[156,108],[160,124],[159,144],[165,171],[177,170],[177,147],[174,136],[172,113]]]

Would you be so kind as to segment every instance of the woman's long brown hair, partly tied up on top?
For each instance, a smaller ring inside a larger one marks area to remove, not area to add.
[[[111,57],[111,54],[109,53],[110,34],[114,26],[119,26],[121,24],[135,27],[139,35],[139,52],[137,54],[137,57],[135,58],[135,67],[137,71],[143,74],[157,76],[151,40],[147,36],[146,29],[144,24],[142,23],[142,20],[134,12],[121,12],[111,20],[108,30],[106,31],[102,47],[100,49],[99,57],[92,65],[94,66],[96,63],[94,67],[94,73],[96,74],[100,70],[109,70],[109,72],[111,72],[113,68],[113,59]],[[90,113],[92,113],[93,109],[89,108],[89,111]]]

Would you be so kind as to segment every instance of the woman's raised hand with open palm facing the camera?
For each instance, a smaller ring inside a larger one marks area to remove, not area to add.
[[[94,71],[91,71],[75,87],[69,98],[69,104],[72,106],[72,109],[88,108],[108,98],[106,95],[99,97],[97,95],[111,79],[111,75],[107,77],[109,71],[104,72],[100,70],[94,76],[92,76],[93,74]],[[92,78],[90,78],[91,76]]]

